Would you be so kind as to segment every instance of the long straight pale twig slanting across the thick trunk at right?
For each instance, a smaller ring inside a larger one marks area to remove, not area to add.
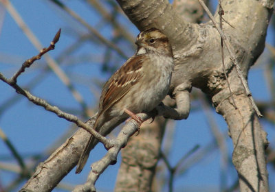
[[[239,78],[241,79],[241,84],[243,84],[243,88],[245,89],[245,94],[250,99],[250,103],[252,104],[252,108],[254,108],[254,110],[255,110],[258,117],[263,117],[263,115],[261,115],[261,112],[260,112],[259,108],[255,104],[255,101],[252,97],[252,93],[250,92],[250,89],[248,88],[248,82],[245,80],[245,77],[243,77],[243,72],[241,71],[241,68],[239,67],[239,63],[238,63],[238,60],[236,58],[236,54],[233,51],[234,49],[232,48],[232,45],[230,44],[228,38],[226,38],[225,34],[223,34],[223,32],[222,32],[221,28],[219,27],[219,25],[217,24],[217,22],[214,21],[214,16],[212,16],[212,14],[211,14],[210,10],[208,10],[206,4],[202,0],[198,0],[198,1],[199,1],[199,3],[201,3],[201,6],[206,11],[206,13],[208,14],[208,16],[211,19],[212,23],[214,24],[214,26],[218,30],[219,34],[221,35],[221,38],[223,39],[223,42],[224,42],[226,48],[228,49],[230,59],[232,60],[232,63],[234,64],[234,66],[236,68],[236,72],[237,72]]]

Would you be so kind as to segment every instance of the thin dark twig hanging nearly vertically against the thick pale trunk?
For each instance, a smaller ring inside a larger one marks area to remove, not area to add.
[[[223,11],[223,8],[221,7],[221,1],[219,0],[219,27],[221,27],[221,30],[223,29],[223,14],[224,14],[224,11]],[[223,53],[223,38],[221,38],[221,62],[223,63],[223,74],[225,75],[225,79],[228,84],[228,89],[230,92],[230,96],[232,98],[232,104],[233,104],[234,108],[237,109],[236,103],[234,100],[234,95],[231,90],[230,82],[228,80],[228,75],[225,72],[224,53]]]

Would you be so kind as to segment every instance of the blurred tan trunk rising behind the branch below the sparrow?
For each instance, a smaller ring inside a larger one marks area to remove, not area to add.
[[[144,122],[138,136],[132,136],[122,149],[122,163],[115,191],[151,191],[155,167],[166,125],[166,119],[156,117]]]

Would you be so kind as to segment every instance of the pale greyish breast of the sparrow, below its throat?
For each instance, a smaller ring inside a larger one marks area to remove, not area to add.
[[[173,58],[153,55],[144,62],[141,83],[132,88],[128,98],[129,109],[135,113],[153,110],[166,97],[173,72]]]

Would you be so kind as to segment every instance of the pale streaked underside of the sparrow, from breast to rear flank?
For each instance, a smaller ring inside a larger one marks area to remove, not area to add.
[[[131,91],[129,91],[129,93],[127,93],[118,104],[115,104],[111,115],[125,115],[122,108],[131,110],[131,112],[135,114],[140,112],[150,112],[160,104],[164,97],[166,97],[170,88],[170,80],[173,71],[173,65],[171,62],[173,62],[173,60],[171,61],[164,58],[161,61],[157,60],[152,61],[151,63],[153,64],[155,62],[163,62],[163,64],[160,64],[153,69],[146,69],[146,67],[144,67],[144,70],[150,71],[150,73],[144,73],[142,80],[140,80],[140,82],[144,83],[134,84]],[[147,77],[145,76],[146,74],[148,75]]]

